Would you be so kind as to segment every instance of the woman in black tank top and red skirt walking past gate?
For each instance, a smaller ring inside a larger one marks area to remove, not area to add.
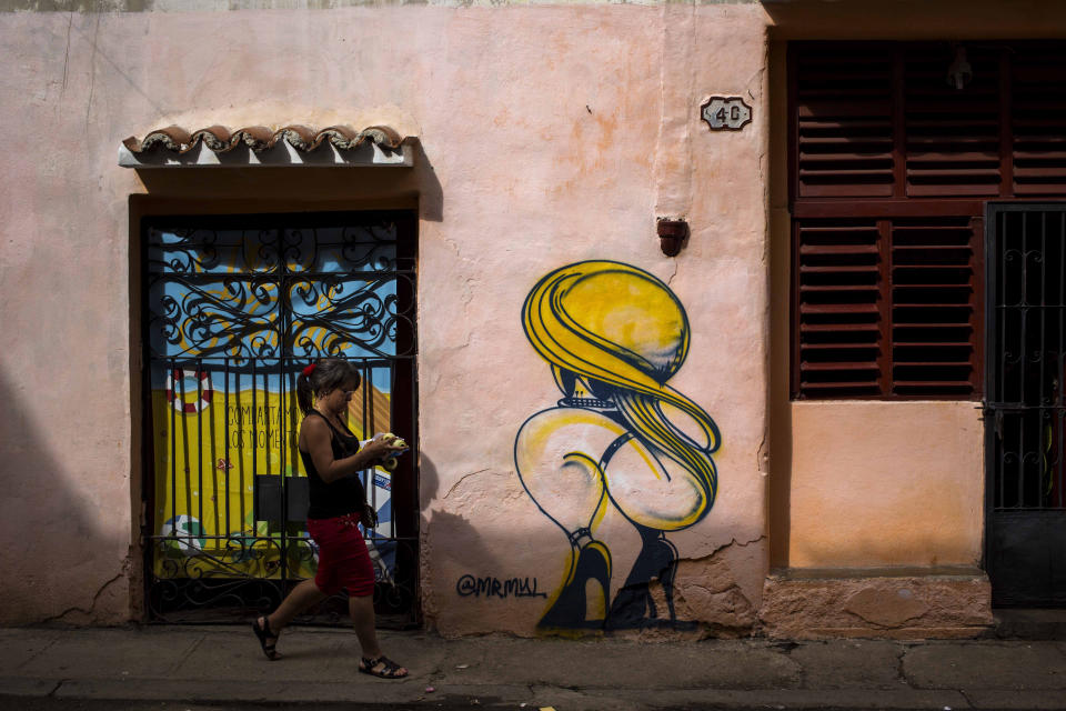
[[[324,358],[303,369],[296,380],[296,401],[304,419],[300,425],[300,459],[308,472],[311,505],[308,532],[319,547],[319,569],[313,579],[293,588],[272,614],[252,623],[270,660],[279,659],[278,637],[294,617],[341,590],[363,655],[359,671],[401,679],[408,670],[381,652],[374,631],[374,568],[359,523],[373,525],[359,472],[400,451],[391,438],[379,438],[360,449],[359,438],[343,415],[359,389],[359,371],[346,360]]]

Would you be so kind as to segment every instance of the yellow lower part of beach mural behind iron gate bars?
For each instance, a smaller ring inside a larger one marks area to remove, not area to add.
[[[157,368],[152,389],[154,471],[153,517],[158,537],[153,574],[211,578],[310,578],[318,570],[318,549],[303,524],[304,511],[290,511],[286,535],[276,514],[257,512],[257,487],[264,477],[305,479],[299,463],[295,425],[301,415],[294,388],[282,384],[290,373],[251,377],[227,372],[224,367]],[[372,369],[371,369],[372,370]],[[349,405],[348,425],[360,438],[375,429],[364,421],[364,401],[374,411],[373,421],[390,421],[390,393],[380,384],[360,385]],[[365,383],[366,381],[364,381]],[[365,392],[364,392],[365,390]],[[362,473],[371,500],[388,532],[392,521],[390,472]],[[266,480],[269,481],[269,480]],[[280,494],[280,482],[276,493]],[[292,485],[292,484],[290,484]],[[274,493],[260,493],[260,502]],[[274,503],[279,509],[280,504]],[[370,532],[379,537],[378,531]],[[371,544],[379,580],[389,580],[394,551],[389,542]],[[381,555],[374,553],[381,552]]]

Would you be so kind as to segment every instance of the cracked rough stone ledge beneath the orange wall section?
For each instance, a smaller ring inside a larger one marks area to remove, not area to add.
[[[992,585],[976,568],[773,571],[758,633],[777,639],[958,639],[994,623]]]

